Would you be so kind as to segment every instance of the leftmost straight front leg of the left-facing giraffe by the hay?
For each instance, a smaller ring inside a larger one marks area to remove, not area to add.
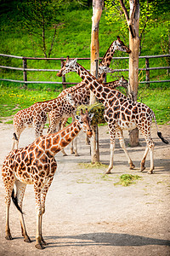
[[[116,129],[111,125],[108,125],[109,132],[110,132],[110,139],[111,139],[111,156],[110,156],[110,165],[105,174],[110,174],[111,169],[113,168],[113,157],[114,157],[114,150],[115,150],[115,137],[116,137]]]

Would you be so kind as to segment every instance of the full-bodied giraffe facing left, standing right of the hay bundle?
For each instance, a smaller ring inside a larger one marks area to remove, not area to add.
[[[150,171],[148,173],[153,173],[154,170],[154,159],[153,159],[153,150],[154,143],[152,141],[150,130],[152,119],[156,117],[155,113],[147,107],[145,104],[140,102],[132,102],[127,96],[124,96],[119,90],[111,90],[108,87],[105,87],[104,84],[100,84],[94,76],[89,73],[84,67],[77,63],[77,59],[69,60],[67,59],[65,66],[62,67],[59,71],[60,73],[65,74],[72,71],[76,71],[77,74],[84,80],[88,85],[88,88],[94,92],[94,95],[97,97],[99,102],[102,102],[105,106],[105,120],[108,124],[110,138],[111,138],[111,160],[110,166],[105,173],[111,173],[113,167],[113,155],[115,148],[115,138],[116,134],[120,140],[122,149],[124,150],[130,169],[134,168],[133,161],[127,153],[125,148],[124,138],[122,135],[122,130],[133,130],[135,127],[138,127],[139,131],[142,132],[144,139],[146,141],[146,149],[144,152],[143,159],[141,160],[140,170],[144,171],[144,163],[148,151],[150,149]],[[163,143],[168,143],[161,136],[161,132],[158,131],[157,135],[161,138]]]

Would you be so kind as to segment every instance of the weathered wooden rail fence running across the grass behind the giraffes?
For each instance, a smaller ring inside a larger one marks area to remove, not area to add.
[[[14,79],[0,79],[1,81],[8,81],[8,82],[16,82],[22,84],[63,84],[63,89],[65,89],[66,84],[77,84],[77,83],[68,83],[65,81],[65,76],[62,76],[62,82],[55,82],[55,81],[28,81],[27,79],[27,72],[59,72],[59,69],[41,69],[41,68],[27,68],[27,60],[36,60],[36,61],[60,61],[61,67],[63,67],[63,61],[65,60],[64,57],[60,58],[35,58],[35,57],[25,57],[25,56],[15,56],[15,55],[4,55],[0,54],[3,57],[10,57],[16,58],[23,61],[23,67],[7,67],[7,66],[0,66],[0,68],[5,69],[12,69],[12,70],[19,70],[23,72],[23,80],[14,80]],[[150,67],[149,60],[152,58],[169,58],[170,55],[145,55],[139,56],[139,59],[145,59],[145,68],[139,68],[139,71],[146,72],[146,80],[139,81],[140,84],[150,84],[150,83],[167,83],[170,80],[157,80],[157,81],[150,81],[150,70],[161,70],[167,69],[169,72],[170,67]],[[113,57],[113,60],[125,60],[129,57]],[[102,58],[99,58],[100,60]],[[90,60],[90,58],[77,58],[77,60]],[[128,72],[128,68],[126,69],[114,69],[114,72]]]

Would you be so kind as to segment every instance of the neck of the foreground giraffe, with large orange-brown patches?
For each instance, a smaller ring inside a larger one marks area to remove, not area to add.
[[[53,157],[62,148],[65,148],[71,141],[77,137],[79,131],[81,131],[81,126],[78,121],[71,123],[71,125],[66,126],[63,130],[58,131],[54,134],[50,134],[43,137],[45,140],[44,147],[47,154]]]

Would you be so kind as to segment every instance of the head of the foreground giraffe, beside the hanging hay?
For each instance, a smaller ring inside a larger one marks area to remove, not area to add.
[[[76,115],[76,119],[79,123],[79,125],[82,128],[82,131],[86,132],[88,137],[92,137],[92,129],[90,127],[91,119],[93,118],[94,113],[88,113],[88,109],[86,109],[86,112],[83,113],[82,109],[80,112],[80,115]]]

